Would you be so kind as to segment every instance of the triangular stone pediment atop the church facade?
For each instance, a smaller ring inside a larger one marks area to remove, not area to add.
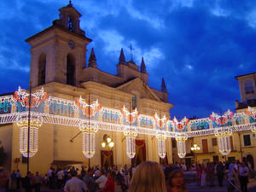
[[[132,79],[125,84],[121,84],[116,87],[117,90],[122,90],[124,92],[128,92],[134,94],[134,92],[138,92],[141,98],[148,98],[154,101],[160,102],[160,98],[156,96],[153,90],[150,89],[148,84],[145,84],[141,79]]]

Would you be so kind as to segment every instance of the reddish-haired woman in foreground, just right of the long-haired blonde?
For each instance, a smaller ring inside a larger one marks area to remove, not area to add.
[[[167,183],[167,192],[186,192],[184,183],[184,174],[181,170],[175,170],[170,173]]]

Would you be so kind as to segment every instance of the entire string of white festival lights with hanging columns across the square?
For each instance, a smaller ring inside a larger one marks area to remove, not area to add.
[[[20,153],[24,156],[27,156],[28,108],[31,108],[32,117],[30,133],[32,142],[29,142],[32,147],[29,146],[29,156],[38,151],[38,128],[43,123],[79,127],[83,132],[83,153],[88,158],[95,154],[95,134],[98,130],[123,131],[126,138],[126,153],[130,158],[136,154],[137,134],[155,136],[158,139],[160,157],[165,154],[166,137],[175,137],[178,156],[183,158],[186,155],[185,141],[188,137],[215,135],[218,137],[220,153],[226,155],[230,153],[230,136],[233,131],[251,130],[256,133],[256,109],[250,107],[246,109],[245,113],[233,114],[228,110],[222,116],[212,113],[208,118],[190,121],[184,118],[179,122],[176,118],[173,120],[165,119],[165,117],[160,119],[157,115],[154,118],[145,114],[139,116],[137,109],[129,113],[125,107],[120,110],[102,108],[97,100],[92,104],[87,104],[82,97],[72,101],[47,96],[43,88],[34,91],[31,97],[31,104],[29,104],[29,94],[26,90],[21,90],[20,87],[14,96],[0,96],[0,124],[17,123],[20,127]],[[107,113],[107,120],[103,119],[105,113]],[[88,119],[84,118],[84,115]],[[120,124],[122,115],[124,125]],[[90,119],[92,116],[97,118]],[[141,118],[152,119],[156,124],[150,127],[141,125],[140,121],[136,121]],[[207,122],[207,126],[203,125],[204,122]],[[190,126],[192,124],[194,125],[193,129]]]

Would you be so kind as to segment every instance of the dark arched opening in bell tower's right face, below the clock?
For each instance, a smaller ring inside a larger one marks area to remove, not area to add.
[[[67,55],[67,84],[75,85],[75,59],[73,55]]]

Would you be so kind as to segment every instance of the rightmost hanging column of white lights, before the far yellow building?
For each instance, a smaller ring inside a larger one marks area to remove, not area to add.
[[[228,127],[217,128],[214,131],[216,137],[218,137],[218,150],[223,155],[230,154],[230,137],[232,136],[232,129]]]

